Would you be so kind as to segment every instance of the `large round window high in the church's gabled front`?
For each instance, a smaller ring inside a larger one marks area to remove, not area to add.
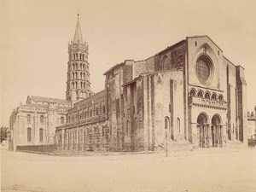
[[[206,55],[201,55],[196,61],[196,75],[202,84],[208,84],[212,76],[212,62]]]

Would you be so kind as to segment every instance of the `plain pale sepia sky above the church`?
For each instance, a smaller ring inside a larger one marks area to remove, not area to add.
[[[0,0],[0,126],[27,96],[65,99],[67,45],[78,14],[94,92],[104,89],[102,74],[113,65],[208,35],[245,68],[247,108],[256,105],[254,0]]]

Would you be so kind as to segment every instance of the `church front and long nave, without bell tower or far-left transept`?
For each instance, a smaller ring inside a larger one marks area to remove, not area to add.
[[[123,61],[104,75],[105,89],[76,102],[67,124],[56,128],[61,150],[159,150],[166,140],[201,148],[247,144],[244,68],[207,36]]]

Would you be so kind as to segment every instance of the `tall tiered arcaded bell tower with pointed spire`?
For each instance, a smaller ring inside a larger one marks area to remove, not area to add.
[[[68,44],[66,99],[78,102],[92,94],[88,62],[88,44],[83,42],[81,26],[78,21],[73,41]]]

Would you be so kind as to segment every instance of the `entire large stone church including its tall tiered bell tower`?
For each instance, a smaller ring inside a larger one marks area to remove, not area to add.
[[[50,143],[71,152],[247,145],[245,70],[211,38],[187,37],[143,61],[117,63],[97,93],[79,20],[68,55],[66,100],[28,96],[10,117],[14,150]]]

